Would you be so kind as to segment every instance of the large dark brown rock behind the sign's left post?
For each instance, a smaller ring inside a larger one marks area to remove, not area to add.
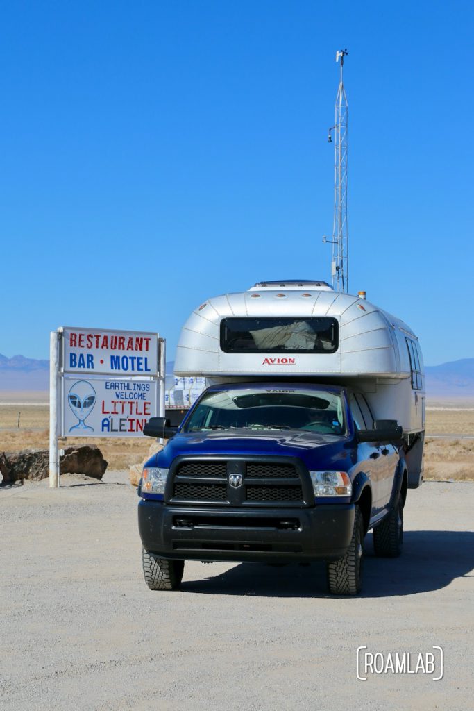
[[[87,474],[94,479],[102,479],[106,469],[107,461],[99,447],[90,444],[67,447],[64,456],[60,457],[60,474]],[[46,479],[49,476],[49,451],[22,449],[0,452],[0,472],[4,483],[19,479]]]

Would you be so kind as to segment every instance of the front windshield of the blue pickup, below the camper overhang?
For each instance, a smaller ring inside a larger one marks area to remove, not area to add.
[[[206,393],[183,432],[212,429],[300,429],[345,434],[343,401],[338,392],[292,388],[235,388]]]

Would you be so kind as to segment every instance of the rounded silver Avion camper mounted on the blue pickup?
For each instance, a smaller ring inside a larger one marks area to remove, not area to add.
[[[176,375],[208,384],[255,380],[343,383],[365,396],[375,419],[404,431],[408,485],[423,471],[424,368],[411,328],[326,282],[260,282],[208,299],[178,342]]]

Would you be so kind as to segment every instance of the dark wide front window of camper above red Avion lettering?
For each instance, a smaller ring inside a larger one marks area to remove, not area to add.
[[[338,321],[328,316],[222,319],[220,347],[225,353],[334,353]]]

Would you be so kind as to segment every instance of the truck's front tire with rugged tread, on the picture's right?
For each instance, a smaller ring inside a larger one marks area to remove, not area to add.
[[[364,520],[355,507],[354,528],[350,546],[344,557],[326,563],[328,589],[332,595],[357,595],[362,589],[362,562],[364,559]]]

